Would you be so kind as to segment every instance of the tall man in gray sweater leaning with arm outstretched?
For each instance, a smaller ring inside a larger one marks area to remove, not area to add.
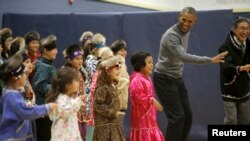
[[[153,82],[156,93],[168,118],[165,140],[185,141],[192,125],[192,111],[182,78],[184,63],[223,63],[227,52],[212,58],[187,53],[190,29],[195,24],[197,12],[185,7],[178,23],[162,36]]]

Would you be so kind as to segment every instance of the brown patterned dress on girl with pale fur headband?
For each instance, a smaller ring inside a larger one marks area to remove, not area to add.
[[[120,110],[117,89],[110,85],[95,90],[93,141],[126,141],[125,132],[116,116]]]

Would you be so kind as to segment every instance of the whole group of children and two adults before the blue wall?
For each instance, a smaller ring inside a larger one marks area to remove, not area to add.
[[[249,124],[249,20],[233,23],[214,57],[187,52],[196,20],[196,10],[185,7],[162,36],[155,68],[151,54],[138,51],[130,58],[131,75],[123,39],[108,46],[103,34],[83,32],[80,44],[61,52],[65,64],[56,68],[56,35],[41,39],[37,31],[29,31],[14,38],[10,28],[2,28],[0,140],[125,141],[130,98],[130,141],[185,141],[192,110],[182,77],[184,63],[220,63],[225,124]],[[165,136],[157,111],[168,119]]]

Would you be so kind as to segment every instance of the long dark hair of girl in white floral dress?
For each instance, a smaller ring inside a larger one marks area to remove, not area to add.
[[[46,102],[55,102],[60,93],[67,92],[67,84],[71,84],[73,80],[77,80],[78,75],[73,68],[60,68],[52,79],[51,88],[46,98]]]

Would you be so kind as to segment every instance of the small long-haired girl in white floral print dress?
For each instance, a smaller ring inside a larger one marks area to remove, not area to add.
[[[79,90],[78,75],[70,67],[58,70],[52,79],[52,86],[47,102],[58,104],[58,110],[49,115],[53,121],[51,127],[51,141],[82,141],[77,112],[84,104],[86,95],[73,98]]]

